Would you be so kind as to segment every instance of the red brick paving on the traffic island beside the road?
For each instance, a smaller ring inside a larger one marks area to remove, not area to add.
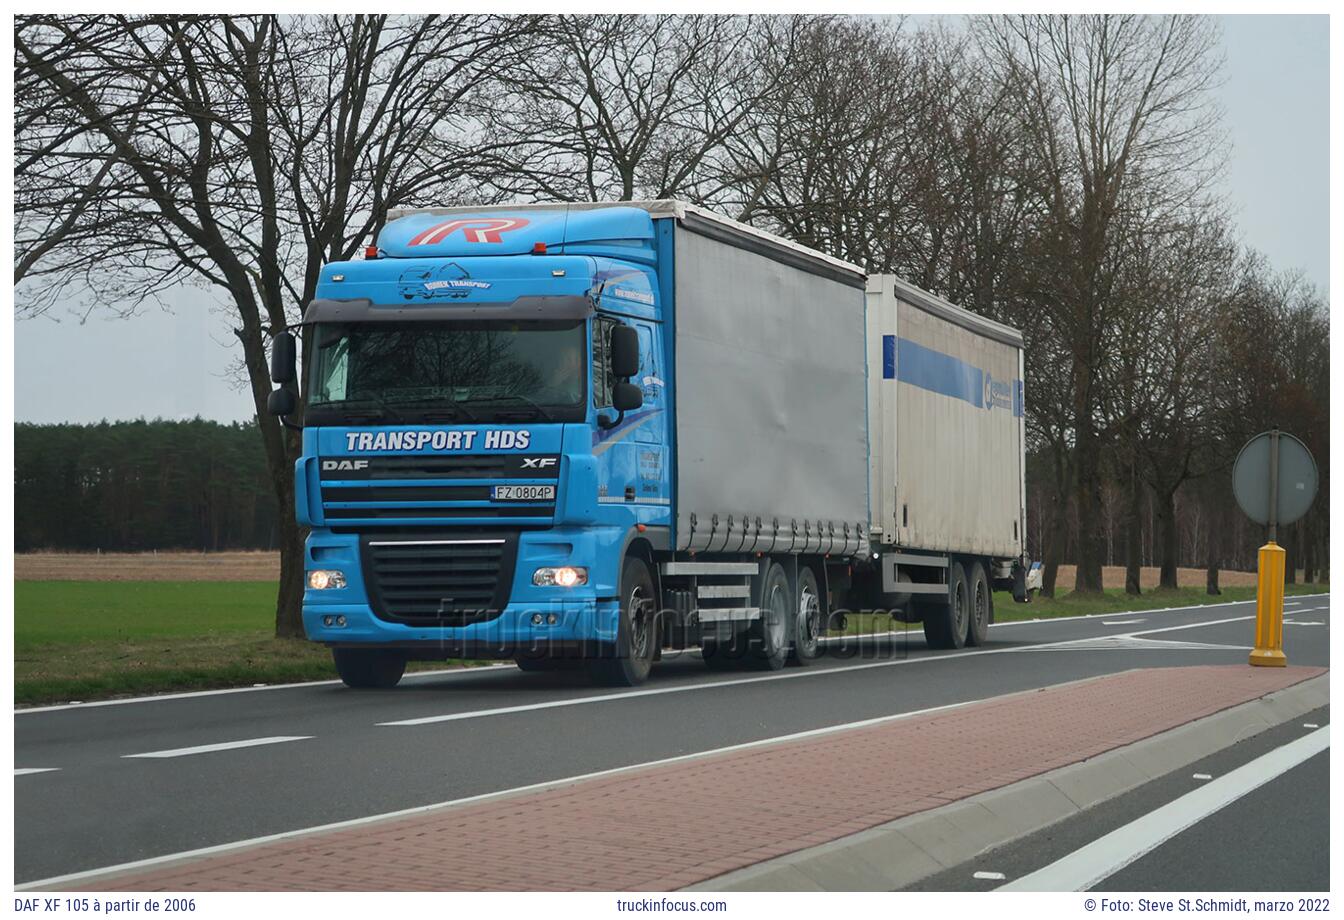
[[[1163,668],[324,831],[90,890],[671,890],[1316,677]]]

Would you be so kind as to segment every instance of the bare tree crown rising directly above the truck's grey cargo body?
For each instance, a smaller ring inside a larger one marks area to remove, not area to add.
[[[495,74],[485,181],[562,201],[712,195],[718,158],[777,85],[758,51],[786,24],[745,16],[562,15]]]

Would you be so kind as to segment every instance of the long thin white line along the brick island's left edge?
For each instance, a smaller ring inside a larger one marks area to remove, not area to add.
[[[1091,680],[1091,678],[1085,678]],[[1066,681],[1066,684],[1056,684],[1055,686],[1064,686],[1067,684],[1078,684],[1079,681]],[[1044,689],[1044,688],[1040,688]],[[1027,693],[1035,693],[1036,690],[1027,690]],[[1013,696],[1013,694],[1008,694]],[[146,869],[149,866],[163,865],[164,862],[176,862],[179,860],[196,860],[204,856],[215,856],[218,853],[228,853],[233,850],[239,850],[249,846],[257,846],[261,843],[273,843],[276,841],[292,839],[294,837],[306,837],[309,834],[320,834],[331,830],[344,830],[347,827],[359,827],[362,825],[371,825],[379,821],[387,821],[390,818],[406,818],[409,815],[425,814],[426,811],[434,811],[437,809],[446,809],[449,806],[462,806],[474,802],[482,802],[487,799],[495,799],[505,795],[517,795],[520,792],[535,792],[538,790],[558,788],[560,786],[570,786],[573,783],[579,783],[589,779],[599,779],[603,776],[614,776],[617,774],[626,774],[634,770],[646,770],[650,767],[664,767],[673,763],[684,763],[687,760],[699,760],[702,757],[712,757],[720,753],[732,753],[737,751],[747,751],[750,748],[767,747],[771,744],[782,744],[785,741],[797,741],[806,737],[817,737],[818,735],[831,735],[832,732],[844,732],[853,728],[866,728],[868,725],[878,725],[882,723],[900,721],[902,719],[913,719],[914,716],[926,716],[934,712],[945,712],[949,709],[961,709],[962,706],[973,706],[980,702],[989,702],[991,700],[1003,700],[1003,696],[982,697],[980,700],[966,700],[965,702],[950,702],[942,706],[931,706],[929,709],[915,709],[914,712],[900,712],[894,716],[879,716],[876,719],[864,719],[856,723],[845,723],[843,725],[828,725],[825,728],[812,728],[805,732],[793,732],[792,735],[780,735],[777,737],[765,737],[758,741],[743,741],[742,744],[730,744],[722,748],[714,748],[711,751],[698,751],[695,753],[681,753],[675,757],[663,757],[660,760],[649,760],[646,763],[630,764],[628,767],[612,767],[609,770],[598,770],[590,774],[578,774],[577,776],[566,776],[563,779],[547,779],[540,783],[531,783],[528,786],[517,786],[515,788],[499,790],[495,792],[481,792],[480,795],[469,795],[461,799],[449,799],[446,802],[434,802],[433,804],[418,804],[413,809],[399,809],[396,811],[384,811],[383,814],[367,815],[364,818],[349,818],[348,821],[337,821],[329,825],[317,825],[316,827],[301,827],[298,830],[286,830],[278,834],[267,834],[266,837],[253,837],[250,839],[234,841],[233,843],[216,843],[215,846],[206,846],[198,850],[185,850],[181,853],[167,853],[164,856],[155,856],[145,860],[136,860],[134,862],[121,862],[112,866],[103,866],[101,869],[86,869],[83,872],[74,872],[66,876],[54,876],[51,878],[39,878],[38,881],[24,882],[23,885],[15,885],[15,890],[30,890],[34,888],[59,888],[69,885],[83,878],[91,878],[95,876],[103,876],[108,873],[122,873],[130,872],[133,869]]]

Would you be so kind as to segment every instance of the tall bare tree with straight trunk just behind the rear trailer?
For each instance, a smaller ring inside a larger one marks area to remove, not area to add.
[[[1169,16],[996,16],[978,23],[981,48],[1015,105],[1040,179],[1044,242],[1042,309],[1067,347],[1074,399],[1073,488],[1083,521],[1099,518],[1107,332],[1124,304],[1113,295],[1117,224],[1130,187],[1145,207],[1179,208],[1203,191],[1216,110],[1214,26]],[[1101,591],[1097,533],[1085,528],[1077,591]]]

